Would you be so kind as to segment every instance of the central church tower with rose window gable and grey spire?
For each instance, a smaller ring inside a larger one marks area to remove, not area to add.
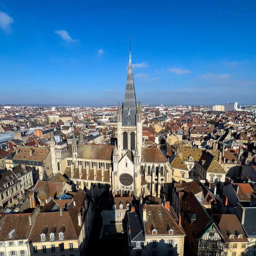
[[[117,108],[117,148],[113,152],[112,192],[139,196],[141,193],[142,109],[136,102],[131,64],[131,46],[125,100]]]

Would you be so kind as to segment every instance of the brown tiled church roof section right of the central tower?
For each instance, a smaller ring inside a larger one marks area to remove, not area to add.
[[[141,148],[141,161],[149,163],[166,163],[167,158],[160,148]]]

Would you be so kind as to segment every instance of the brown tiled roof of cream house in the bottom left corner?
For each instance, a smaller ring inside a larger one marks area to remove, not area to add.
[[[30,213],[7,214],[3,218],[0,229],[0,241],[27,239],[31,225],[29,225]],[[9,238],[9,233],[15,230],[13,237]]]

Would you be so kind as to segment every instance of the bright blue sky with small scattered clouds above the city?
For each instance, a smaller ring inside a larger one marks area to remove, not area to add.
[[[0,103],[256,104],[256,1],[0,0]]]

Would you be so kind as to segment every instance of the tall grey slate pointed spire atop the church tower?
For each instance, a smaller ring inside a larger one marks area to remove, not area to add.
[[[125,88],[125,101],[122,111],[122,125],[136,125],[136,95],[134,88],[134,79],[131,65],[131,42],[130,42],[130,56],[128,65],[128,74]]]

